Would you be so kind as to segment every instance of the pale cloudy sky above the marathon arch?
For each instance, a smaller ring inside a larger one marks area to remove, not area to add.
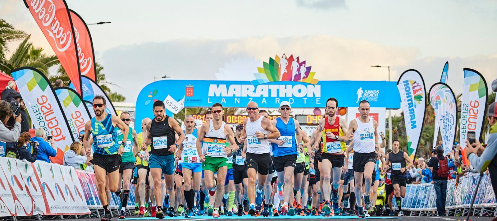
[[[139,3],[138,3],[139,2]],[[283,53],[306,60],[319,80],[388,80],[418,70],[426,90],[449,62],[497,78],[497,1],[431,0],[67,0],[89,25],[96,60],[114,90],[136,103],[154,77],[215,80],[236,63]],[[0,17],[54,54],[22,0],[1,0]],[[220,71],[220,69],[223,69]],[[255,73],[256,70],[247,70]],[[238,72],[237,72],[238,73]],[[237,79],[239,76],[231,76]]]

